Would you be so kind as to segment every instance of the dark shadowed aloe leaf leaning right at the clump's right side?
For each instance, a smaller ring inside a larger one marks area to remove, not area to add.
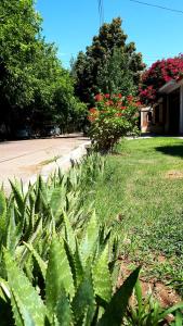
[[[129,299],[132,294],[133,288],[136,284],[140,267],[138,267],[131,275],[125,280],[121,287],[113,296],[108,303],[105,313],[99,321],[97,326],[120,326],[122,318],[127,312]]]

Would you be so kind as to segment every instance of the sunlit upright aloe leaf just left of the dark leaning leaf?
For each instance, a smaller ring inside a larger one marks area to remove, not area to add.
[[[92,268],[95,296],[105,301],[112,298],[112,279],[108,269],[108,246],[105,247],[100,259]]]

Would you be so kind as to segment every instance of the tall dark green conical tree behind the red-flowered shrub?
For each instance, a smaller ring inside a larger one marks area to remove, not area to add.
[[[141,53],[133,42],[127,43],[121,20],[104,24],[86,53],[79,52],[71,73],[76,78],[76,93],[82,101],[93,103],[100,91],[134,91],[144,68]],[[130,89],[129,89],[130,87]]]

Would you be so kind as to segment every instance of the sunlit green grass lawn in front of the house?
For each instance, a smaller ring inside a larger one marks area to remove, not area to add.
[[[104,176],[86,191],[100,218],[116,220],[121,254],[144,276],[183,293],[183,140],[123,140]]]

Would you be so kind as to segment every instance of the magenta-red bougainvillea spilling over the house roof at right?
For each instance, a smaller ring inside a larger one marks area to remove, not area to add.
[[[142,75],[140,98],[143,103],[155,102],[158,89],[169,80],[179,80],[183,75],[183,54],[158,60]]]

